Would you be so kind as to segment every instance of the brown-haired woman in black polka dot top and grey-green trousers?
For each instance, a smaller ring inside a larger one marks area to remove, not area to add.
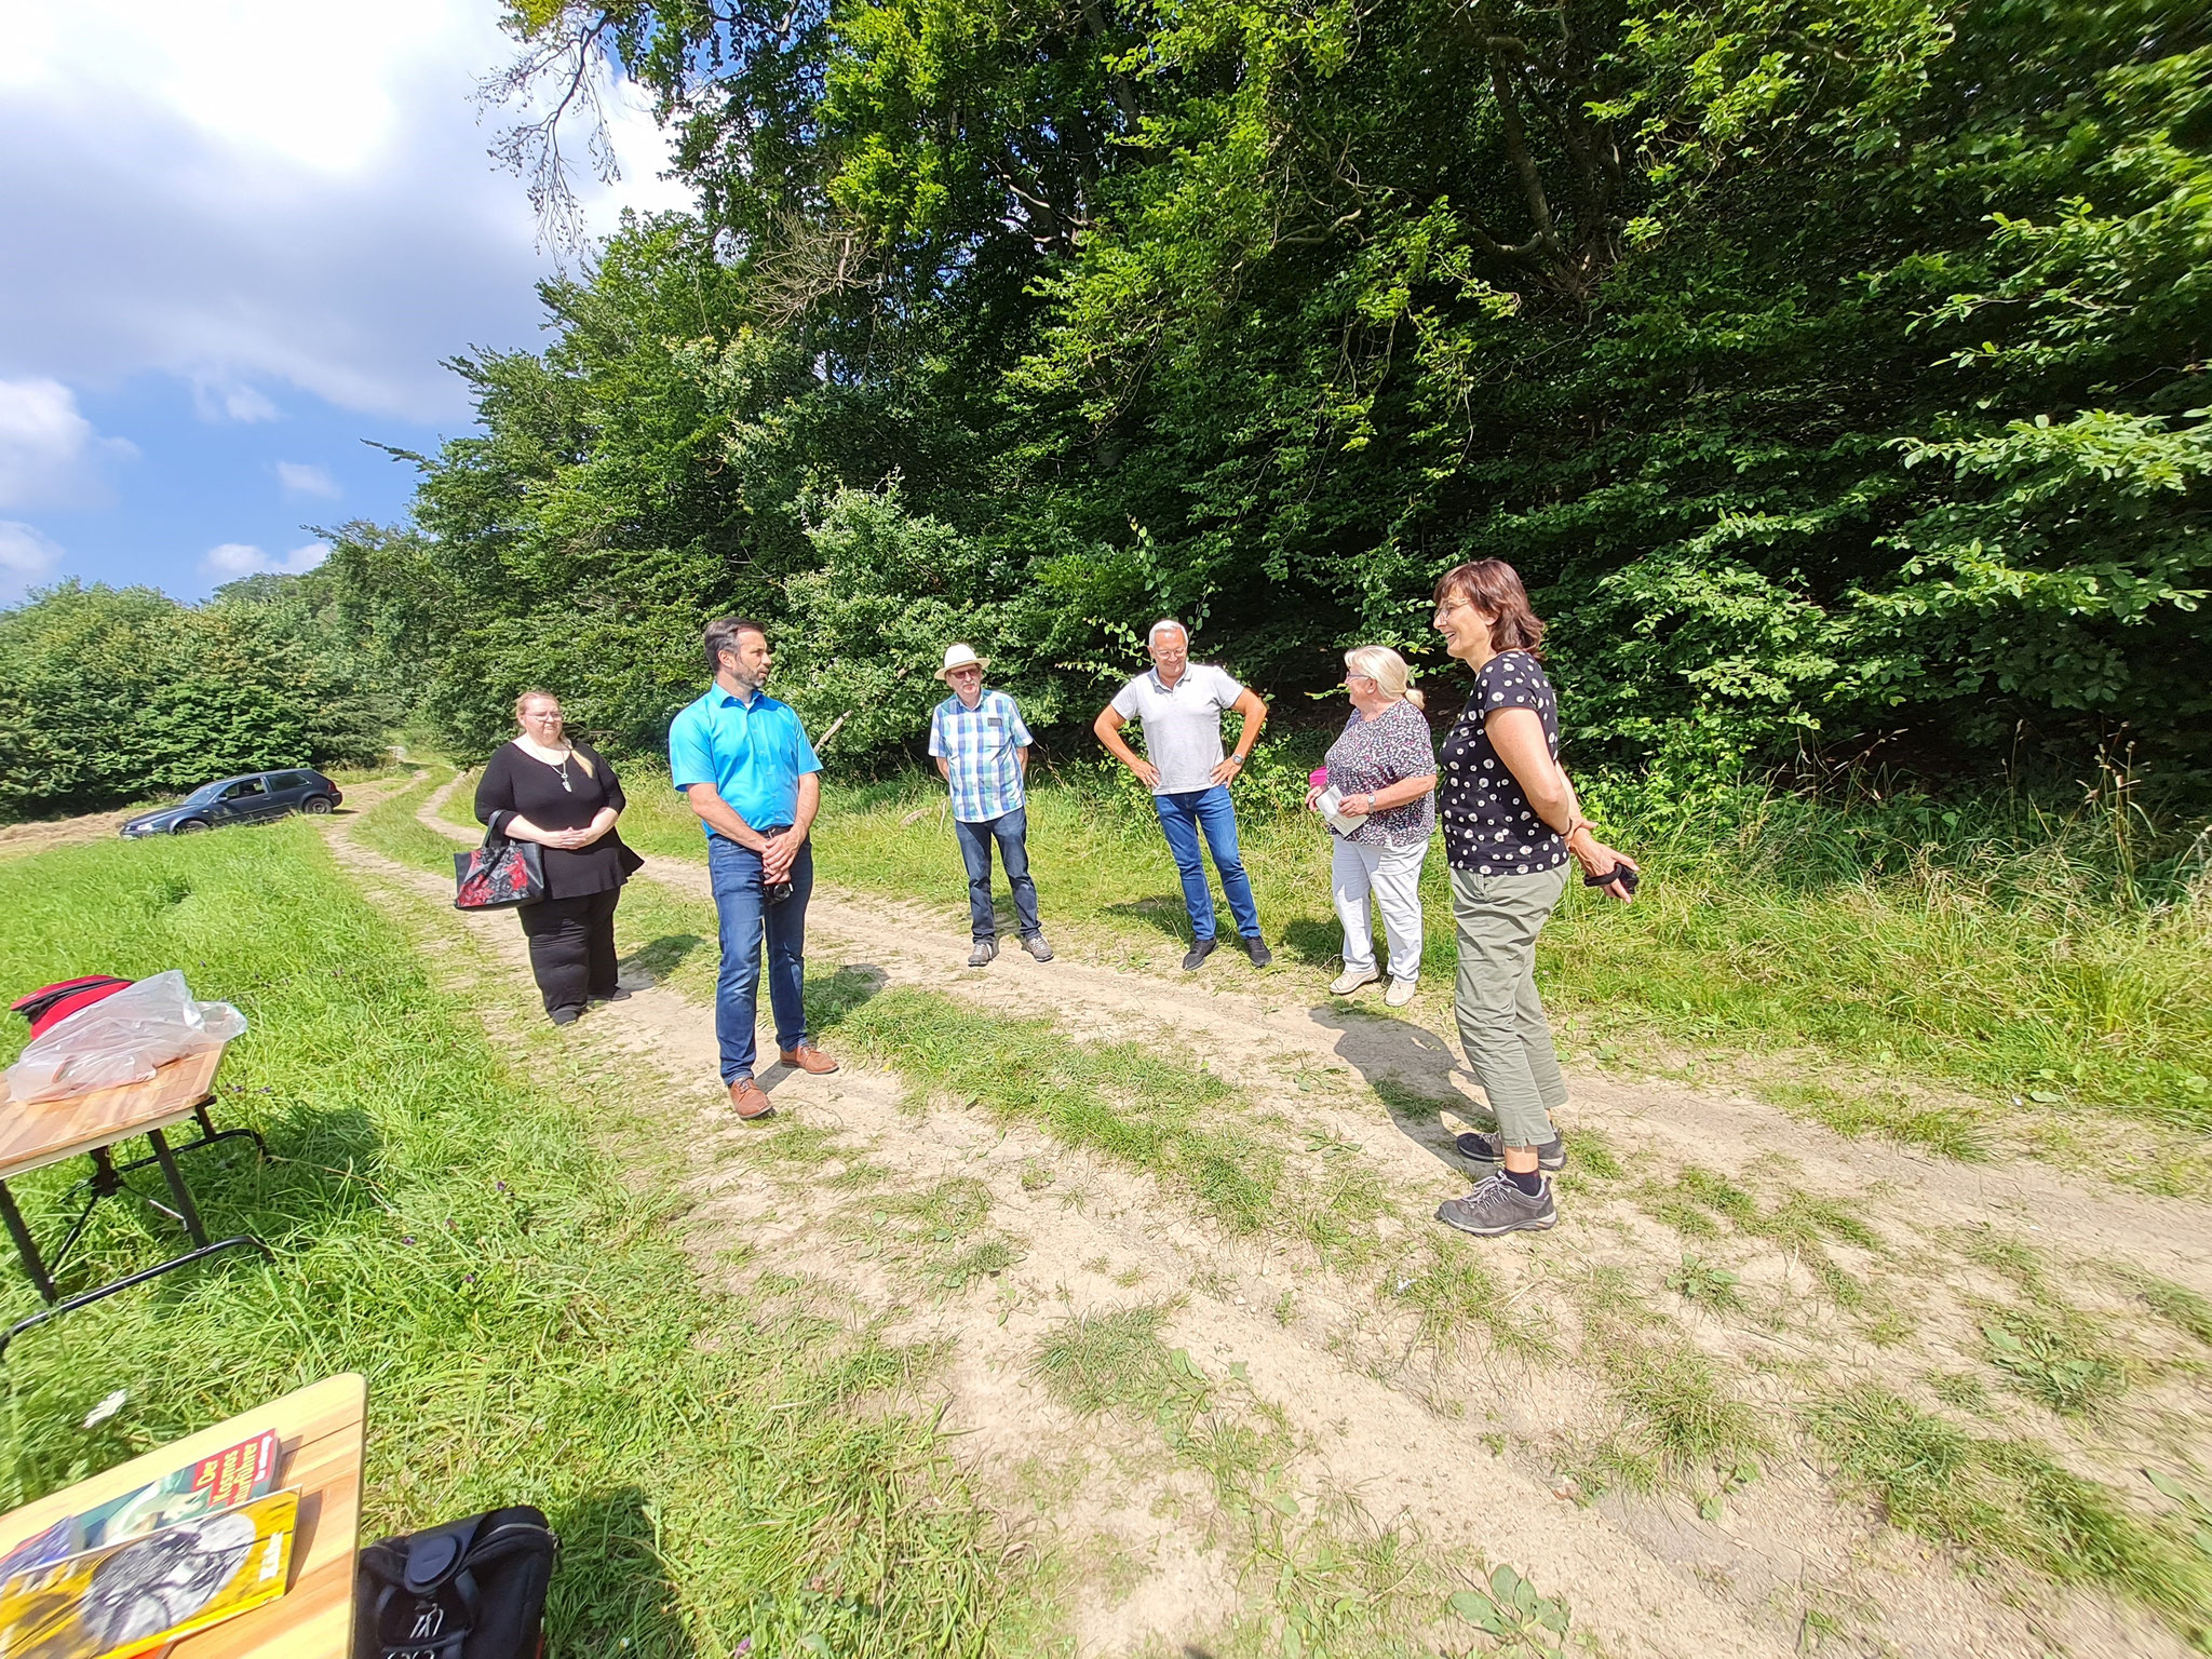
[[[1436,754],[1438,818],[1460,929],[1460,1046],[1498,1119],[1495,1133],[1458,1141],[1493,1172],[1436,1217],[1491,1237],[1559,1219],[1542,1170],[1566,1164],[1551,1121],[1566,1104],[1566,1077],[1535,993],[1535,936],[1566,891],[1568,858],[1610,878],[1601,891],[1624,902],[1630,887],[1619,872],[1635,863],[1590,834],[1559,770],[1559,699],[1537,661],[1544,624],[1513,566],[1478,560],[1447,571],[1433,626],[1444,650],[1475,670],[1475,695]]]

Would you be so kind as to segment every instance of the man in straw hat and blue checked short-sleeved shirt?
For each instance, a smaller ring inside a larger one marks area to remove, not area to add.
[[[1037,883],[1029,878],[1029,807],[1022,790],[1029,776],[1029,728],[1022,710],[1000,690],[982,688],[989,657],[973,646],[945,648],[938,679],[953,695],[929,717],[929,752],[938,774],[953,796],[953,832],[960,836],[960,863],[969,872],[969,931],[975,949],[969,967],[982,967],[998,956],[998,911],[991,907],[991,843],[1006,865],[1013,887],[1013,916],[1022,929],[1022,949],[1040,962],[1053,960],[1037,922]]]

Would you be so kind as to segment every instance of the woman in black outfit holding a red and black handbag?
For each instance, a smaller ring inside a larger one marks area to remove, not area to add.
[[[564,1026],[586,1002],[622,1002],[615,984],[615,902],[644,865],[615,834],[628,801],[615,768],[562,730],[560,699],[529,690],[515,699],[522,732],[502,743],[476,785],[476,816],[544,847],[546,896],[522,905],[531,973],[546,1015]]]

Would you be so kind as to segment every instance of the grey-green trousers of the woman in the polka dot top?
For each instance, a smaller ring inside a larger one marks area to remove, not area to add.
[[[1506,1146],[1544,1146],[1551,1113],[1566,1104],[1566,1077],[1535,993],[1535,936],[1544,931],[1568,865],[1533,876],[1451,872],[1451,918],[1460,925],[1460,1046],[1498,1117]]]

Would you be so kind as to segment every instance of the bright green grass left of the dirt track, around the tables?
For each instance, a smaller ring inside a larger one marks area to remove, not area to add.
[[[495,1055],[398,914],[299,821],[0,867],[0,984],[181,967],[246,1011],[219,1113],[272,1157],[190,1175],[210,1228],[276,1252],[20,1338],[0,1504],[361,1369],[367,1535],[544,1506],[562,1652],[987,1652],[1024,1577],[900,1407],[936,1356],[701,1292],[639,1197],[666,1190],[633,1117],[650,1091],[555,1046]],[[33,1225],[60,1219],[60,1179],[22,1183]],[[69,1283],[148,1261],[150,1225],[102,1206]],[[9,1274],[4,1314],[31,1305]]]

